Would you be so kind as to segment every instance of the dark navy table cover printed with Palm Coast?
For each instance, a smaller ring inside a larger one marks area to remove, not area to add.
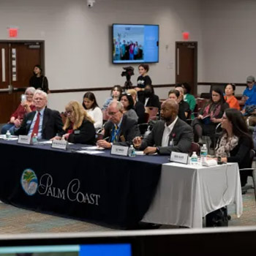
[[[20,208],[129,227],[148,210],[167,157],[78,154],[0,140],[0,200]]]

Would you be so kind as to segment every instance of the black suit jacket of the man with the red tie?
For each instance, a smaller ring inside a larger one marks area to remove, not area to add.
[[[20,129],[15,131],[15,135],[28,135],[31,127],[34,115],[37,111],[26,114],[23,118],[23,122],[20,125]],[[45,108],[44,116],[42,119],[42,139],[50,140],[56,136],[57,133],[63,131],[63,123],[58,111]]]

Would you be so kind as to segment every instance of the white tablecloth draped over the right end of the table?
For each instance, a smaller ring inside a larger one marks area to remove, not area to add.
[[[203,167],[167,163],[143,222],[203,227],[203,217],[230,203],[243,212],[238,165]]]

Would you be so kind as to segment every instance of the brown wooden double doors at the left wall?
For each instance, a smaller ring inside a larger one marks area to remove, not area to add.
[[[33,67],[43,67],[43,42],[0,42],[0,124],[7,123],[29,86]],[[1,91],[12,86],[10,92]]]

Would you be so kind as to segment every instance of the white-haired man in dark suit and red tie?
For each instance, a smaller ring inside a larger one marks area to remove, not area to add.
[[[63,123],[58,111],[45,108],[47,105],[47,94],[37,90],[33,97],[36,111],[24,116],[20,127],[15,125],[15,135],[37,134],[38,139],[50,140],[62,131]]]

